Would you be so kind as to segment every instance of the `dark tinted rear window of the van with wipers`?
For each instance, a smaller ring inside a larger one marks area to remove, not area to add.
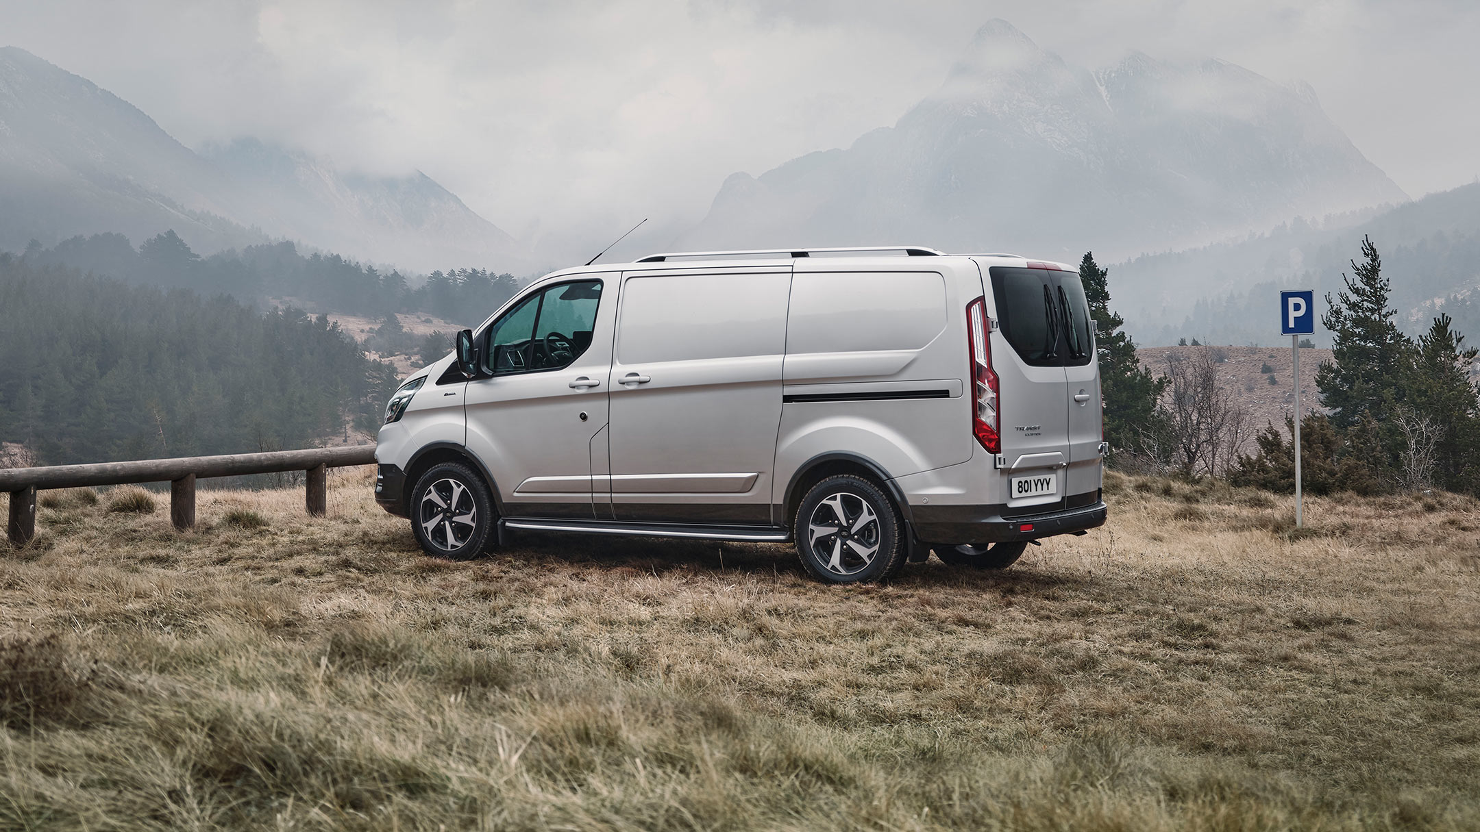
[[[1089,303],[1072,271],[992,266],[1002,336],[1024,363],[1079,367],[1094,360]]]

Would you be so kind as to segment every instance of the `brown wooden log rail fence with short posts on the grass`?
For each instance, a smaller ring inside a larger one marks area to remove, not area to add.
[[[371,463],[374,463],[374,446],[351,446],[89,465],[0,468],[0,492],[10,492],[10,517],[6,534],[12,543],[19,546],[36,536],[36,492],[38,490],[169,483],[170,523],[175,524],[175,529],[185,530],[195,526],[197,478],[303,471],[308,474],[305,508],[308,514],[323,517],[329,508],[327,469]]]

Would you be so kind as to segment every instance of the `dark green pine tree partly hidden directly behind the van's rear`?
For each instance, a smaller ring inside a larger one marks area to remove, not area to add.
[[[1111,449],[1138,450],[1141,431],[1150,429],[1156,403],[1166,379],[1153,376],[1135,355],[1135,342],[1120,332],[1125,318],[1110,311],[1109,269],[1095,264],[1092,252],[1079,261],[1079,280],[1085,284],[1089,317],[1097,321],[1100,348],[1100,391],[1104,397],[1106,438]]]

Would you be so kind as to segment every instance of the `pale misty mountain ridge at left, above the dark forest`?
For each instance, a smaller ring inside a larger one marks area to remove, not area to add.
[[[92,81],[0,49],[0,249],[170,228],[201,253],[289,238],[413,269],[519,256],[422,173],[360,176],[250,139],[197,154]]]

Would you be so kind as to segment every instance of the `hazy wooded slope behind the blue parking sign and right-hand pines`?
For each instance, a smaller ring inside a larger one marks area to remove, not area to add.
[[[1370,237],[1391,283],[1397,324],[1409,335],[1446,312],[1470,342],[1480,340],[1480,182],[1428,194],[1387,210],[1296,218],[1265,234],[1110,265],[1113,305],[1144,345],[1197,338],[1205,343],[1280,345],[1282,289],[1341,289]],[[1317,345],[1329,343],[1320,332]]]

